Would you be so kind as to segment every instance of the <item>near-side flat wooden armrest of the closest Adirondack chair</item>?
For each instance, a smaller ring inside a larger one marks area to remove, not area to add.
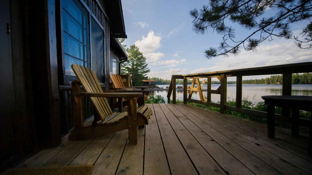
[[[73,96],[84,97],[106,97],[106,98],[136,98],[143,97],[142,92],[108,92],[108,93],[91,93],[91,92],[72,92]]]

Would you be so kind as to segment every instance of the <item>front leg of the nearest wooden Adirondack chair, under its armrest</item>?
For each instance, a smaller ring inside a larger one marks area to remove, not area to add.
[[[128,100],[128,135],[129,144],[137,144],[138,124],[136,98],[126,98]]]

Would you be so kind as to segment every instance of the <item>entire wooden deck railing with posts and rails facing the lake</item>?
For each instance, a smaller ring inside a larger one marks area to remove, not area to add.
[[[176,103],[176,79],[183,79],[183,103],[187,102],[199,103],[207,106],[219,107],[222,114],[226,113],[226,110],[236,111],[253,116],[260,116],[266,118],[267,113],[264,111],[255,111],[251,109],[242,108],[242,76],[251,75],[270,75],[270,74],[282,74],[283,86],[282,95],[291,95],[292,74],[293,73],[309,73],[312,72],[312,62],[296,63],[296,64],[283,64],[276,66],[265,66],[248,69],[235,69],[217,72],[205,72],[205,73],[193,73],[184,75],[172,75],[169,90],[168,90],[168,103],[170,103],[170,97],[172,94],[172,101]],[[227,105],[227,77],[236,77],[236,106]],[[199,78],[207,78],[207,101],[204,100],[201,86],[199,84]],[[211,89],[211,78],[218,78],[220,81],[220,87],[217,90]],[[189,96],[187,88],[187,80],[193,79]],[[195,86],[195,82],[197,87]],[[197,91],[201,100],[192,99],[192,92]],[[220,94],[220,104],[211,102],[211,94]],[[282,115],[276,114],[276,119],[280,121],[291,122],[290,110],[282,109]],[[301,125],[309,126],[310,120],[300,118]]]

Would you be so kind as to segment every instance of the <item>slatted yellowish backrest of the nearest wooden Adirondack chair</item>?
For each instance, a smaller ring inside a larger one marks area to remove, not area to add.
[[[78,78],[79,82],[86,92],[103,92],[93,70],[77,64],[71,65],[71,68],[73,69],[76,77]],[[93,103],[102,121],[105,120],[105,117],[113,114],[105,97],[90,97],[90,100]]]

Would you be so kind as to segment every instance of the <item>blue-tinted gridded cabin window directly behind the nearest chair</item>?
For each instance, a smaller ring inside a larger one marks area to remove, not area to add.
[[[90,68],[89,14],[78,1],[62,2],[65,75],[72,81],[71,64]]]

